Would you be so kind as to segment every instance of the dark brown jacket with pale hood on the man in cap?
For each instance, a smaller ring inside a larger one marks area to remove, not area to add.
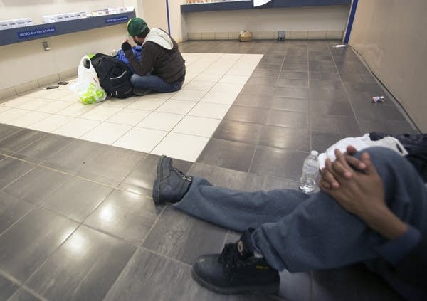
[[[137,75],[157,75],[167,83],[183,82],[185,60],[178,49],[178,43],[159,28],[150,29],[142,44],[142,58],[137,60],[132,49],[125,52],[130,66]]]

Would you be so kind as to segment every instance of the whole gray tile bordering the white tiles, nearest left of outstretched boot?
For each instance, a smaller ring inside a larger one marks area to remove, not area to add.
[[[147,157],[147,154],[143,152],[108,147],[104,152],[86,162],[77,175],[100,183],[117,186],[145,157]]]

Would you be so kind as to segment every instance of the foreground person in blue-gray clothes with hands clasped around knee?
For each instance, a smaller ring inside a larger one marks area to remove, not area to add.
[[[321,191],[235,191],[188,176],[161,157],[156,204],[243,232],[221,254],[201,255],[193,278],[223,294],[278,292],[278,271],[364,262],[407,300],[427,300],[427,189],[411,163],[384,147],[326,160]]]

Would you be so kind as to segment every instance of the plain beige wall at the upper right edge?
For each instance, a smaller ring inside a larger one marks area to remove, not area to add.
[[[427,131],[426,0],[359,0],[350,45]]]

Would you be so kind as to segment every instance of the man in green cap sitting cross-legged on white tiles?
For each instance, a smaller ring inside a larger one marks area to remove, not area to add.
[[[174,92],[181,89],[185,79],[185,60],[176,41],[162,29],[150,30],[141,18],[130,19],[127,32],[137,45],[144,45],[142,58],[137,60],[129,41],[122,43],[122,51],[135,72],[130,78],[134,94],[142,96],[152,90]]]

